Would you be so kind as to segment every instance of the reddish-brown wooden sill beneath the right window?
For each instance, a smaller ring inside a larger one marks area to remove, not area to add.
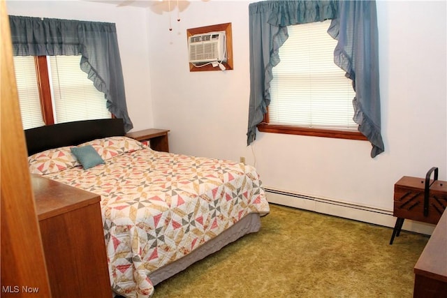
[[[300,126],[286,126],[279,124],[258,124],[258,131],[262,133],[284,133],[287,135],[310,135],[313,137],[334,137],[337,139],[348,140],[364,140],[367,141],[365,135],[358,131],[338,131],[323,128],[305,128]]]

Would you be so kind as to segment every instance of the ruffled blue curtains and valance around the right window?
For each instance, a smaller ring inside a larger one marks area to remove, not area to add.
[[[247,144],[270,104],[272,68],[287,26],[332,20],[328,33],[338,40],[337,66],[353,80],[353,120],[372,143],[371,156],[383,152],[379,94],[379,47],[375,1],[261,1],[249,4],[250,100]]]

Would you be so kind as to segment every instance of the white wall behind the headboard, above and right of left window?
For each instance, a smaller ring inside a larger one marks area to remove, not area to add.
[[[8,0],[6,9],[8,15],[115,23],[133,131],[153,126],[146,9],[89,1],[36,0]]]

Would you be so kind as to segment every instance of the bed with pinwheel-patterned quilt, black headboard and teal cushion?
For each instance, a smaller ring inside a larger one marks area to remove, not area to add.
[[[123,127],[101,119],[25,130],[29,168],[101,195],[112,290],[150,297],[154,285],[258,232],[270,209],[254,167],[154,151]]]

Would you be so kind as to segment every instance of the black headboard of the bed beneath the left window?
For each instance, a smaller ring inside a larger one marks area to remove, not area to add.
[[[91,140],[125,135],[122,119],[97,119],[47,125],[24,131],[28,155]]]

